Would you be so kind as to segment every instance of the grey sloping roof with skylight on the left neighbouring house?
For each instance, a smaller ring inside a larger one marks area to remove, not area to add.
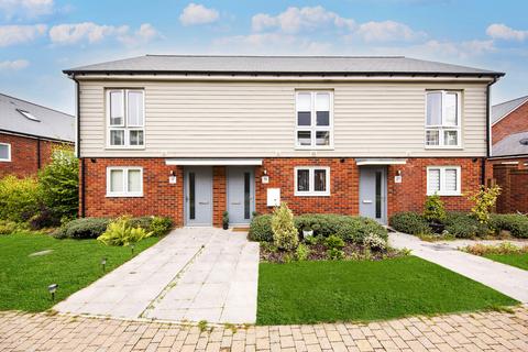
[[[28,111],[40,121],[24,117]],[[0,130],[66,142],[75,141],[75,118],[25,100],[0,94]]]

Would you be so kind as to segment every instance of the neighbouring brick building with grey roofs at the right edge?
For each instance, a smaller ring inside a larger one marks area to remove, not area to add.
[[[502,187],[497,212],[528,213],[528,96],[492,107],[494,182]]]

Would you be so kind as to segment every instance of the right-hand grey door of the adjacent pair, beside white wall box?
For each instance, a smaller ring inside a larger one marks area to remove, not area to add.
[[[228,167],[228,211],[231,224],[251,221],[254,210],[254,177],[252,167]]]

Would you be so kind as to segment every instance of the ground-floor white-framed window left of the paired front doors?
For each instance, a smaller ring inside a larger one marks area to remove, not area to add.
[[[143,197],[143,168],[107,167],[107,197]]]

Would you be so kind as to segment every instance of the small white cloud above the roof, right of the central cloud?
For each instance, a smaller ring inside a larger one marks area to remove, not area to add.
[[[407,24],[384,21],[366,22],[359,26],[355,35],[362,37],[365,42],[392,42],[392,41],[414,41],[425,38],[424,32],[413,31]]]

